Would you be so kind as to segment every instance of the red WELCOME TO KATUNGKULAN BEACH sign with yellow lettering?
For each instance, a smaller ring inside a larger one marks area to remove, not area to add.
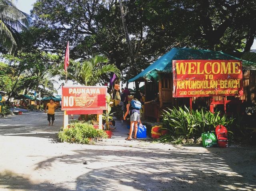
[[[173,60],[173,96],[243,95],[240,60]]]

